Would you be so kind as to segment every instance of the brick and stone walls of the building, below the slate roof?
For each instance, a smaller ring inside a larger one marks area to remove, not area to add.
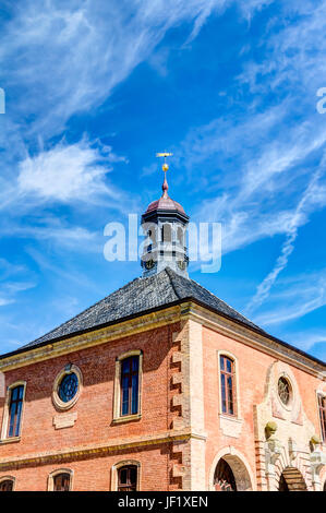
[[[114,422],[116,360],[131,350],[143,355],[141,416]],[[234,418],[221,414],[220,351],[236,362]],[[247,327],[189,303],[26,355],[0,362],[5,386],[26,382],[21,437],[0,442],[0,481],[14,478],[15,490],[47,490],[57,469],[72,473],[73,490],[111,490],[121,462],[136,462],[141,490],[210,490],[220,458],[238,489],[276,489],[286,468],[307,489],[323,487],[326,451],[311,438],[321,437],[316,393],[326,394],[325,366]],[[52,390],[68,363],[83,385],[61,411]],[[282,373],[293,390],[289,409],[275,395]],[[1,397],[0,422],[4,410]],[[277,425],[270,438],[268,421]]]

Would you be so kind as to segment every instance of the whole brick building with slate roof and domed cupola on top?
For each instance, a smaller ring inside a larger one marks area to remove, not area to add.
[[[0,490],[325,489],[325,363],[189,278],[162,190],[143,277],[0,357]]]

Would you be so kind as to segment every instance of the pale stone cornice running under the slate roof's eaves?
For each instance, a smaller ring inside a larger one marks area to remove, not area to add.
[[[255,332],[242,323],[234,322],[224,315],[206,309],[191,299],[180,302],[166,309],[160,309],[150,313],[145,313],[123,322],[117,322],[110,326],[95,329],[94,331],[80,335],[67,337],[57,342],[35,347],[26,348],[26,351],[9,355],[0,360],[0,372],[25,367],[38,361],[56,358],[76,350],[97,346],[117,341],[119,338],[142,333],[156,327],[173,324],[180,320],[193,319],[222,335],[239,341],[245,345],[262,350],[274,358],[281,359],[305,372],[309,372],[322,381],[326,380],[326,367],[318,363],[313,358],[281,344],[269,337],[268,334]]]

